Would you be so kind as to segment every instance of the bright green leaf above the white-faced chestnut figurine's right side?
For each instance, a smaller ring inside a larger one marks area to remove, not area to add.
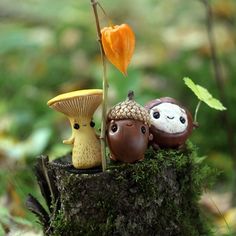
[[[195,84],[190,78],[184,78],[185,84],[193,91],[200,101],[205,102],[209,107],[216,110],[226,110],[226,107],[216,98],[212,97],[207,89]]]

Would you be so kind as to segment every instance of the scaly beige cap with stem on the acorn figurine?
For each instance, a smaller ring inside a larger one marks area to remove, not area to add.
[[[148,111],[133,100],[134,92],[128,93],[128,98],[124,102],[120,102],[110,109],[107,115],[110,120],[137,120],[142,121],[148,126],[151,125],[150,115]]]

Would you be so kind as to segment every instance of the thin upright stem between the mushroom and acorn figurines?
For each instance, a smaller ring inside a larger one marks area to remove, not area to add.
[[[97,5],[98,2],[96,0],[91,0],[91,4],[93,7],[96,28],[97,28],[97,37],[100,46],[101,60],[103,66],[103,100],[102,100],[102,124],[101,124],[101,153],[102,153],[102,170],[106,170],[106,116],[107,116],[107,95],[108,95],[108,80],[107,80],[107,70],[106,70],[106,57],[102,47],[101,40],[101,28],[98,18]]]

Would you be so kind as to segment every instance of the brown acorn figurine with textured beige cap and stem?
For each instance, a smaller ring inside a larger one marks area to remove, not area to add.
[[[107,116],[107,143],[112,160],[133,163],[144,158],[148,147],[150,117],[147,110],[133,100],[112,107]]]

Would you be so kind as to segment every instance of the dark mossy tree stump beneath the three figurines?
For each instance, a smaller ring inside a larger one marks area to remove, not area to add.
[[[30,196],[27,201],[29,209],[39,218],[41,215],[45,234],[210,234],[198,199],[211,171],[198,161],[192,147],[182,151],[148,150],[144,161],[110,163],[104,173],[85,174],[72,167],[62,168],[59,163],[63,159],[45,162],[43,166],[49,173],[46,177],[45,169],[39,174],[43,158],[36,167],[43,195],[54,192],[54,197],[47,200],[46,196],[47,202],[54,203],[48,204],[47,223],[35,208],[37,200]]]

